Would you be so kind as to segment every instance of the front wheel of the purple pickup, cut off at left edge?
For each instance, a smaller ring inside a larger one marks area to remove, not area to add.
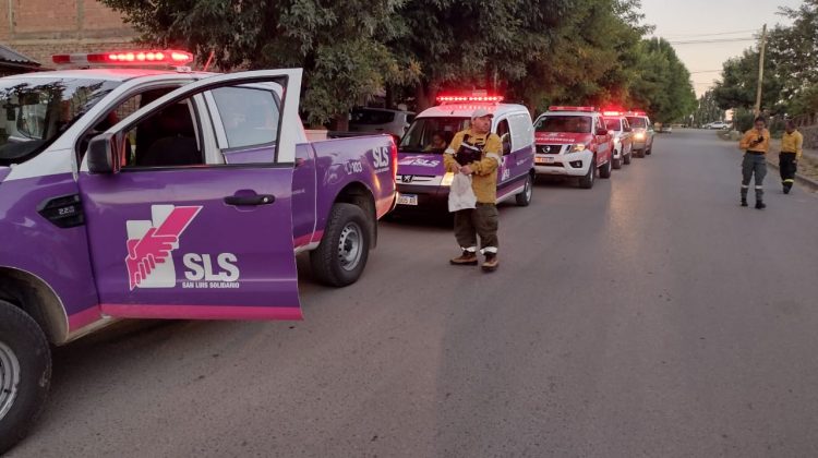
[[[39,325],[0,301],[0,454],[28,434],[46,405],[51,349]]]

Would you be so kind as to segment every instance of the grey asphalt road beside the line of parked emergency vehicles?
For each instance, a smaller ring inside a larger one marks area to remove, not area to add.
[[[741,155],[657,138],[501,208],[501,268],[384,222],[301,323],[136,322],[58,349],[15,457],[818,456],[818,197],[738,206]]]

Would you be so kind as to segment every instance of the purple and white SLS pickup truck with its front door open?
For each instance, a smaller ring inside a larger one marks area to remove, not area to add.
[[[309,142],[301,74],[0,79],[0,453],[44,407],[49,343],[119,318],[301,320],[300,252],[322,282],[358,279],[396,145]]]

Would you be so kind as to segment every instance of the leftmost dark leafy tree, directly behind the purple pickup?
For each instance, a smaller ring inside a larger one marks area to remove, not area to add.
[[[344,128],[356,103],[417,75],[383,45],[405,32],[393,21],[401,1],[101,1],[122,12],[143,41],[213,53],[222,70],[304,68],[301,106],[314,123],[334,118]]]

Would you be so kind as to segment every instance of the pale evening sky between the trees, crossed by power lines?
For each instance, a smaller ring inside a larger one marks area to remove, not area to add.
[[[767,24],[789,25],[775,14],[779,7],[797,8],[802,0],[642,0],[645,22],[655,26],[653,36],[667,39],[690,71],[696,95],[702,95],[721,77],[722,63],[741,56],[758,41],[677,44],[674,41],[750,38]],[[717,35],[718,34],[718,35]]]

